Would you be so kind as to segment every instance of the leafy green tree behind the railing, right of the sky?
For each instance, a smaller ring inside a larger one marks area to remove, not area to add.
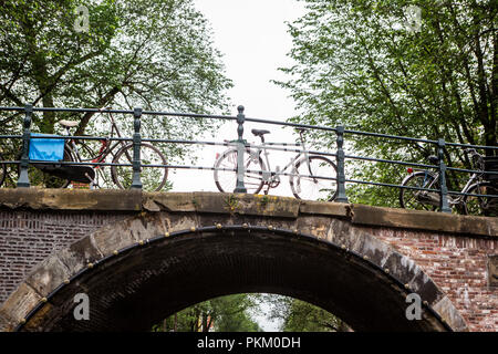
[[[495,0],[303,0],[308,13],[289,24],[295,65],[278,82],[303,112],[293,122],[497,146],[498,25]],[[404,23],[408,6],[422,28]],[[320,148],[334,137],[312,136]],[[346,135],[362,156],[426,162],[433,145]],[[487,150],[488,155],[494,154]],[[495,150],[496,154],[496,150]],[[446,150],[448,165],[470,168],[461,149]],[[398,184],[404,168],[350,163],[359,179]],[[450,190],[468,175],[449,174]],[[353,186],[353,201],[397,205],[397,189]]]

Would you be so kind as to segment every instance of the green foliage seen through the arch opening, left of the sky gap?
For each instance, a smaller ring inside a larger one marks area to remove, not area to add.
[[[167,332],[261,332],[249,311],[257,305],[257,295],[236,294],[211,299],[181,310],[153,326],[153,331]],[[176,324],[175,324],[176,322]]]

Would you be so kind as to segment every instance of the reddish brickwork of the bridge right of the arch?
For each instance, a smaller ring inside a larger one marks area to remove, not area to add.
[[[498,289],[488,287],[488,254],[498,240],[375,228],[369,230],[413,259],[446,292],[470,331],[497,331]]]

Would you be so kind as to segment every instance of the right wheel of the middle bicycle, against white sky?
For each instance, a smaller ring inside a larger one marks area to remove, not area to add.
[[[289,178],[292,194],[298,199],[332,201],[338,196],[338,168],[330,159],[322,156],[310,156],[294,165],[293,175]]]

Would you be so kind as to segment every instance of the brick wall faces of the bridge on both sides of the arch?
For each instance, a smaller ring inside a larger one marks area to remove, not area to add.
[[[51,252],[129,212],[0,211],[0,303]],[[498,329],[498,290],[487,283],[498,240],[430,231],[365,228],[413,259],[447,293],[471,331]]]

